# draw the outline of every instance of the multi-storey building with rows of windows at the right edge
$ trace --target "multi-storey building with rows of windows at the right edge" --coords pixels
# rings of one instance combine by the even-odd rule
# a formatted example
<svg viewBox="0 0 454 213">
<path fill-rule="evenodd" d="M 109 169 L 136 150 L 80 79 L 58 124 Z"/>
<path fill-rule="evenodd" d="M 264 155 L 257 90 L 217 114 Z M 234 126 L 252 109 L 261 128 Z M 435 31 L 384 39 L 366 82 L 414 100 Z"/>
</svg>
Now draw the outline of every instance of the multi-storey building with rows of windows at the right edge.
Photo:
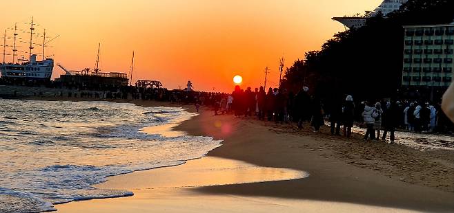
<svg viewBox="0 0 454 213">
<path fill-rule="evenodd" d="M 453 79 L 454 22 L 404 31 L 402 86 L 446 89 Z"/>
</svg>

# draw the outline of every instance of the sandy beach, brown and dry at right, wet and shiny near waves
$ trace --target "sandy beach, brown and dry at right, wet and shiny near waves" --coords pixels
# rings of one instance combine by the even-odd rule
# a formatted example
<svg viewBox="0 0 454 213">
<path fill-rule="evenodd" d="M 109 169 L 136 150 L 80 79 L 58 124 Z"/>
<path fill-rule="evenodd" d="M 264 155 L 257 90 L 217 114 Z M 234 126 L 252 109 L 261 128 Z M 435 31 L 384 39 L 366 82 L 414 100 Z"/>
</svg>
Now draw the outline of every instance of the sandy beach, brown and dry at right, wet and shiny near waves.
<svg viewBox="0 0 454 213">
<path fill-rule="evenodd" d="M 193 106 L 187 107 L 193 111 Z M 56 205 L 57 210 L 454 212 L 453 151 L 421 152 L 397 144 L 364 143 L 359 135 L 353 139 L 331 136 L 326 127 L 315 134 L 308 125 L 299 131 L 291 124 L 213 116 L 213 111 L 204 108 L 200 115 L 175 129 L 224 139 L 224 145 L 208 153 L 210 157 L 181 166 L 110 177 L 98 186 L 131 190 L 135 193 L 132 197 L 66 203 Z M 224 171 L 216 169 L 228 165 L 236 166 Z M 239 169 L 245 167 L 253 169 Z M 277 168 L 290 170 L 282 172 Z M 210 170 L 215 172 L 207 172 Z M 257 171 L 282 174 L 266 177 Z M 310 175 L 277 180 L 288 179 L 297 171 Z M 238 178 L 233 181 L 224 177 Z M 266 181 L 267 178 L 275 181 Z M 257 181 L 266 182 L 254 183 Z"/>
</svg>

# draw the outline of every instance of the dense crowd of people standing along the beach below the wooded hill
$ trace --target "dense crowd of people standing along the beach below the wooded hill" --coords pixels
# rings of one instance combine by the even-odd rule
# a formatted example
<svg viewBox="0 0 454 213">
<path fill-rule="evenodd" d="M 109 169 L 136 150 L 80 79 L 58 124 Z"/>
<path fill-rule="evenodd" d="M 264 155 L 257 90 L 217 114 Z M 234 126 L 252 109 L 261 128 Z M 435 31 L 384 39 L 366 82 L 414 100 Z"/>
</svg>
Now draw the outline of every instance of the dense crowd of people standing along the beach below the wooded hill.
<svg viewBox="0 0 454 213">
<path fill-rule="evenodd" d="M 354 102 L 350 95 L 331 98 L 310 96 L 308 87 L 294 94 L 286 89 L 235 86 L 231 94 L 213 93 L 215 115 L 233 113 L 236 117 L 257 117 L 277 123 L 296 122 L 303 128 L 310 123 L 317 133 L 325 119 L 330 133 L 351 137 L 353 124 L 366 127 L 364 139 L 394 141 L 396 129 L 422 133 L 453 133 L 454 126 L 440 110 L 440 104 L 409 100 L 368 100 Z M 201 100 L 201 99 L 200 99 Z M 204 104 L 203 101 L 197 104 Z M 382 133 L 382 134 L 381 134 Z M 380 137 L 381 136 L 381 137 Z"/>
</svg>

